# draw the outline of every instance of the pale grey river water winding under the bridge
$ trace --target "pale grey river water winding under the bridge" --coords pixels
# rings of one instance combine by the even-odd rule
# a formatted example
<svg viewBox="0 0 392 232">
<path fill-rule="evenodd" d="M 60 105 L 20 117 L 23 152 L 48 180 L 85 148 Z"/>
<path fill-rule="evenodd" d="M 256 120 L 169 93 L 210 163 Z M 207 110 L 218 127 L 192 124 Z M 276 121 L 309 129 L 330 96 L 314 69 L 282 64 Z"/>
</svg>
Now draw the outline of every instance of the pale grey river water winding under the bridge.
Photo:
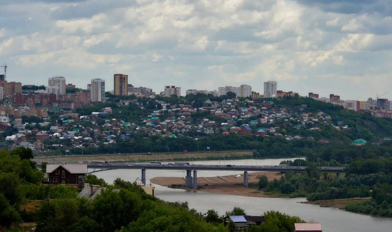
<svg viewBox="0 0 392 232">
<path fill-rule="evenodd" d="M 290 158 L 289 160 L 294 160 Z M 208 160 L 194 161 L 193 164 L 233 164 L 233 165 L 277 165 L 286 159 L 264 159 L 264 160 Z M 256 164 L 257 162 L 257 164 Z M 108 170 L 94 173 L 108 183 L 120 177 L 123 180 L 133 182 L 141 177 L 140 170 L 122 169 Z M 238 171 L 197 171 L 198 177 L 225 176 L 240 174 Z M 158 176 L 185 176 L 185 171 L 180 170 L 146 170 L 146 181 Z M 187 191 L 182 189 L 171 189 L 160 185 L 156 187 L 156 196 L 165 201 L 188 201 L 189 207 L 198 212 L 205 213 L 214 209 L 223 215 L 233 207 L 241 207 L 249 215 L 261 215 L 267 210 L 277 210 L 289 215 L 299 216 L 307 222 L 319 222 L 323 232 L 391 232 L 392 219 L 356 214 L 339 210 L 336 208 L 319 207 L 318 205 L 301 204 L 305 198 L 257 198 L 246 196 L 234 196 L 217 194 L 211 192 Z"/>
</svg>

